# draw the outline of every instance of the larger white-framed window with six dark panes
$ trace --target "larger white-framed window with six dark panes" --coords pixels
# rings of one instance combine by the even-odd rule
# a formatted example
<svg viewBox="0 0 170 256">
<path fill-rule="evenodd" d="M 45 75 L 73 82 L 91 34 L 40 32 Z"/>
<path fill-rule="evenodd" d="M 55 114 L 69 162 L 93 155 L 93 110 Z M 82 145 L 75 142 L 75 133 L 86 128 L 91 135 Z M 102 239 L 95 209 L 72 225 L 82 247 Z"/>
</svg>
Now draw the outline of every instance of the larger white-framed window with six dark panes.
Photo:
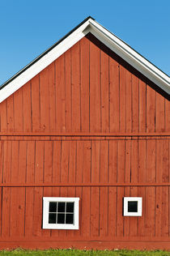
<svg viewBox="0 0 170 256">
<path fill-rule="evenodd" d="M 43 228 L 79 229 L 79 198 L 43 198 Z"/>
</svg>

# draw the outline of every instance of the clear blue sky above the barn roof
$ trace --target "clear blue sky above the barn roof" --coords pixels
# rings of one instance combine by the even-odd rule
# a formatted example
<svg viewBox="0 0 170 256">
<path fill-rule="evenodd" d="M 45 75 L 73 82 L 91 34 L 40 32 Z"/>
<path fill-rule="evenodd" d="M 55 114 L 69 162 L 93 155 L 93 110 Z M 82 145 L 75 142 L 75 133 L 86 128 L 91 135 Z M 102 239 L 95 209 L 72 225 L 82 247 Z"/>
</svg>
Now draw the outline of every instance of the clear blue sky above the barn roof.
<svg viewBox="0 0 170 256">
<path fill-rule="evenodd" d="M 89 15 L 170 75 L 170 0 L 0 0 L 0 85 Z"/>
</svg>

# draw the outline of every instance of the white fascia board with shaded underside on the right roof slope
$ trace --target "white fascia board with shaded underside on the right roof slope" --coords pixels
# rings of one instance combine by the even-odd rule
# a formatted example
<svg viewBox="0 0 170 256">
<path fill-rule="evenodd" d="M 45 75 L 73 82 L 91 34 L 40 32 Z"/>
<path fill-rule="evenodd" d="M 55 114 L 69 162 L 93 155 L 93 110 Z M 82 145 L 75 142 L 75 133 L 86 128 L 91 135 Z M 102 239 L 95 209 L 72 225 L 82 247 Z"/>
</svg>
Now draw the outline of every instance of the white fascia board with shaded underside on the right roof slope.
<svg viewBox="0 0 170 256">
<path fill-rule="evenodd" d="M 135 52 L 134 49 L 131 49 L 130 46 L 126 45 L 123 41 L 117 38 L 117 36 L 108 32 L 107 29 L 102 27 L 99 23 L 96 23 L 95 20 L 91 19 L 89 23 L 91 25 L 89 32 L 131 66 L 134 66 L 134 68 L 141 72 L 142 75 L 151 79 L 152 82 L 170 94 L 170 78 L 168 75 L 164 74 L 164 72 L 152 65 L 151 62 L 148 62 L 145 58 L 142 58 L 142 56 Z"/>
</svg>

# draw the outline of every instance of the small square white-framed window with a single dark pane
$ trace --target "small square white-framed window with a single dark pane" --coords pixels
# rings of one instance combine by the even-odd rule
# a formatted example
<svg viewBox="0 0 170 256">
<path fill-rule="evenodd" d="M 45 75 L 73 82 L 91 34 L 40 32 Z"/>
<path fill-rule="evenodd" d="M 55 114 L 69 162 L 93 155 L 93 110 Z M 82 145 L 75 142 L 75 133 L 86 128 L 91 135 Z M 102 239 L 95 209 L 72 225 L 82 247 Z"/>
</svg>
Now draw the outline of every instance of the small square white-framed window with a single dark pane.
<svg viewBox="0 0 170 256">
<path fill-rule="evenodd" d="M 124 216 L 142 216 L 142 198 L 125 197 L 123 198 Z"/>
</svg>

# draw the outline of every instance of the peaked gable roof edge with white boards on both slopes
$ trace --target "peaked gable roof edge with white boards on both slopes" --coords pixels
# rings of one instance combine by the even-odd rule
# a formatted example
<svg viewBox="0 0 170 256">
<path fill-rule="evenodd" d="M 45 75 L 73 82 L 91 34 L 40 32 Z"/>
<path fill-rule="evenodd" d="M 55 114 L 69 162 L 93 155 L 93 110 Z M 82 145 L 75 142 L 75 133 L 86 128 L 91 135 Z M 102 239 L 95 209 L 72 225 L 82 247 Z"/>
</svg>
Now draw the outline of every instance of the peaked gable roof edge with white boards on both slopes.
<svg viewBox="0 0 170 256">
<path fill-rule="evenodd" d="M 170 94 L 170 77 L 90 16 L 0 87 L 0 103 L 91 32 L 98 40 Z"/>
</svg>

